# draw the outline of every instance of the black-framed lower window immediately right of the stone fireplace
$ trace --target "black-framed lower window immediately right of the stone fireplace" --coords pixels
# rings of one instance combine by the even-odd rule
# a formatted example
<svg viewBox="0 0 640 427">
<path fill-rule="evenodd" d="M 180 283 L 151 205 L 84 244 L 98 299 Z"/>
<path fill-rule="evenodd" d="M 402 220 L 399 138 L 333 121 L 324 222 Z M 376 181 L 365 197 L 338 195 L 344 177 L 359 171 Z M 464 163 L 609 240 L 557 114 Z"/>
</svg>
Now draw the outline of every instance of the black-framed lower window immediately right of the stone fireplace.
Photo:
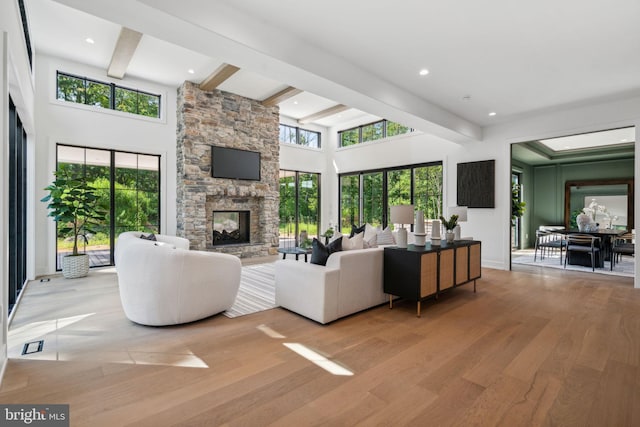
<svg viewBox="0 0 640 427">
<path fill-rule="evenodd" d="M 320 174 L 280 171 L 280 247 L 301 246 L 318 237 Z"/>
</svg>

